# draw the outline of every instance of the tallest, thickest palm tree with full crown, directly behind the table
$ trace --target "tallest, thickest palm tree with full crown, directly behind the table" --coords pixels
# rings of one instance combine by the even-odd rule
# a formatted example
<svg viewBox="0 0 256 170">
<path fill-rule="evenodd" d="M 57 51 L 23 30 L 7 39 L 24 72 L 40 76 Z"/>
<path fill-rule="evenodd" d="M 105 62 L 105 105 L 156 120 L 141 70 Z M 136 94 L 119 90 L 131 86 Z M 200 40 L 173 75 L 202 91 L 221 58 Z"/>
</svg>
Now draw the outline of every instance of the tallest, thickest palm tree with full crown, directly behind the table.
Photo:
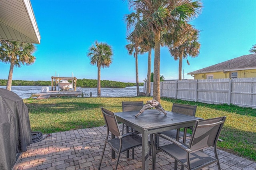
<svg viewBox="0 0 256 170">
<path fill-rule="evenodd" d="M 154 83 L 153 99 L 160 102 L 160 35 L 165 29 L 171 29 L 178 22 L 186 22 L 197 16 L 202 5 L 200 1 L 192 0 L 128 0 L 134 13 L 130 14 L 134 21 L 128 23 L 131 27 L 138 18 L 143 20 L 148 30 L 154 32 Z"/>
</svg>

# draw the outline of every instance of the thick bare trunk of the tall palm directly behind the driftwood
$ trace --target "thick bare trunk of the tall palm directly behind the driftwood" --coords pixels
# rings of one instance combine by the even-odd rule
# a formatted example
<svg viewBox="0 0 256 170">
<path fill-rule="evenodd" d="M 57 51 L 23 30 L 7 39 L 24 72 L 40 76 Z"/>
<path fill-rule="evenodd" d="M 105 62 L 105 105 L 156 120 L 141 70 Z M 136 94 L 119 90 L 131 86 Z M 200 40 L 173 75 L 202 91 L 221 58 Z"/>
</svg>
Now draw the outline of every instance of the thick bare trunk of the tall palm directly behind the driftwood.
<svg viewBox="0 0 256 170">
<path fill-rule="evenodd" d="M 153 99 L 160 103 L 160 30 L 155 32 Z"/>
</svg>

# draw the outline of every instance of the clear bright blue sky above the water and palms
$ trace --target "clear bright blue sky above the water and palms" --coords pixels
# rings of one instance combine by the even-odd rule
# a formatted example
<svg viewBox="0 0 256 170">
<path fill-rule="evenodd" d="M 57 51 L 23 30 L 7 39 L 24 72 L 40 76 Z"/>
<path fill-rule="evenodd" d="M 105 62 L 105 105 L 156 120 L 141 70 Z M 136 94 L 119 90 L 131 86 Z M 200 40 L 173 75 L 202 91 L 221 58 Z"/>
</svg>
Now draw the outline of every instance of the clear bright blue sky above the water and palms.
<svg viewBox="0 0 256 170">
<path fill-rule="evenodd" d="M 89 47 L 97 40 L 114 51 L 113 63 L 101 69 L 102 80 L 135 82 L 135 59 L 124 48 L 128 44 L 124 15 L 130 14 L 122 0 L 31 0 L 41 43 L 36 45 L 33 65 L 14 68 L 13 80 L 50 81 L 60 77 L 97 79 L 97 67 L 90 65 Z M 204 8 L 190 22 L 200 30 L 200 54 L 183 60 L 187 73 L 250 54 L 256 44 L 256 0 L 202 0 Z M 147 56 L 138 56 L 139 81 L 147 74 Z M 152 51 L 152 68 L 154 51 Z M 9 64 L 0 63 L 0 79 L 8 79 Z M 178 61 L 161 48 L 160 74 L 178 79 Z"/>
</svg>

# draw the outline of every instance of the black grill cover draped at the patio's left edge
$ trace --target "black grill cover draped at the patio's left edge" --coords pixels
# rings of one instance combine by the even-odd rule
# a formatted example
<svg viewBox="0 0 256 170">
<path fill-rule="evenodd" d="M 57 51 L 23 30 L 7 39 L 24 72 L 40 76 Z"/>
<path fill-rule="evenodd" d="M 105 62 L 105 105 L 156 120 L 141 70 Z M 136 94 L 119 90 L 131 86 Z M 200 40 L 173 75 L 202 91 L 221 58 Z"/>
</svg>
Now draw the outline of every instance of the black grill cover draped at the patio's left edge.
<svg viewBox="0 0 256 170">
<path fill-rule="evenodd" d="M 28 108 L 16 93 L 0 88 L 0 170 L 11 170 L 16 153 L 32 143 Z"/>
</svg>

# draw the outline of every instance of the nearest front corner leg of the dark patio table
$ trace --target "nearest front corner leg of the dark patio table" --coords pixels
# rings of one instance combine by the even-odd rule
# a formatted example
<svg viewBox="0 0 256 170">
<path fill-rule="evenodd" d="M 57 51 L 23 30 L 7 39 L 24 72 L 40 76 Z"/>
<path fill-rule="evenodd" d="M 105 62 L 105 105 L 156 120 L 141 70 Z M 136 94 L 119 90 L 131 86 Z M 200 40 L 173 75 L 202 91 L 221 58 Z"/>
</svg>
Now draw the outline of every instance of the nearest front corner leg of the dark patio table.
<svg viewBox="0 0 256 170">
<path fill-rule="evenodd" d="M 142 169 L 149 169 L 149 153 L 148 153 L 148 130 L 142 132 Z"/>
</svg>

